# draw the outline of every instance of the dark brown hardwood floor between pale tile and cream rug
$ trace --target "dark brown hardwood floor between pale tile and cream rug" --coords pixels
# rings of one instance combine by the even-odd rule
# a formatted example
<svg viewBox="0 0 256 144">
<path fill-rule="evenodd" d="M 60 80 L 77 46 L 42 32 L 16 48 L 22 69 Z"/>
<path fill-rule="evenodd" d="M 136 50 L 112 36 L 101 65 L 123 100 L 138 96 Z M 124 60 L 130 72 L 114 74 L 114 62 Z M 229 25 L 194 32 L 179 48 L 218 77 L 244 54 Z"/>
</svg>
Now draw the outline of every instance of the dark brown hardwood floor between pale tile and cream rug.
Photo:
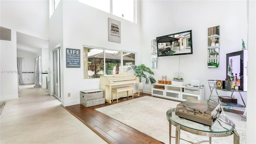
<svg viewBox="0 0 256 144">
<path fill-rule="evenodd" d="M 151 96 L 151 94 L 140 94 L 141 96 Z M 134 98 L 138 98 L 134 96 Z M 132 99 L 131 96 L 129 98 L 119 98 L 118 102 L 123 102 L 126 100 Z M 112 102 L 112 104 L 116 104 L 116 100 Z M 67 106 L 65 107 L 71 114 L 73 114 L 76 118 L 78 118 L 81 122 L 83 122 L 86 126 L 88 126 L 91 130 L 93 130 L 96 134 L 98 134 L 102 139 L 104 139 L 109 144 L 162 144 L 105 114 L 102 114 L 96 110 L 95 108 L 100 108 L 104 106 L 110 105 L 109 103 L 100 104 L 98 106 L 92 107 L 84 107 L 81 104 Z"/>
</svg>

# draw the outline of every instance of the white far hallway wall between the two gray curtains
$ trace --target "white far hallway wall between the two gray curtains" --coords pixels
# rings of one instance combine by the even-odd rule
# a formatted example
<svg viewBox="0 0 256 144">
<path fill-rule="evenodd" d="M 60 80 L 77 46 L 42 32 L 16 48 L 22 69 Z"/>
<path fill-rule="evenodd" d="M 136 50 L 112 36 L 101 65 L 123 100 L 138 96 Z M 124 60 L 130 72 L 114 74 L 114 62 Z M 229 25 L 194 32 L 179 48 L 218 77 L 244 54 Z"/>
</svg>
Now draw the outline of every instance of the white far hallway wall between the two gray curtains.
<svg viewBox="0 0 256 144">
<path fill-rule="evenodd" d="M 34 72 L 35 70 L 35 58 L 36 54 L 30 53 L 23 50 L 17 50 L 17 58 L 22 59 L 22 71 Z M 34 73 L 23 73 L 22 80 L 24 84 L 34 84 L 35 74 Z"/>
</svg>

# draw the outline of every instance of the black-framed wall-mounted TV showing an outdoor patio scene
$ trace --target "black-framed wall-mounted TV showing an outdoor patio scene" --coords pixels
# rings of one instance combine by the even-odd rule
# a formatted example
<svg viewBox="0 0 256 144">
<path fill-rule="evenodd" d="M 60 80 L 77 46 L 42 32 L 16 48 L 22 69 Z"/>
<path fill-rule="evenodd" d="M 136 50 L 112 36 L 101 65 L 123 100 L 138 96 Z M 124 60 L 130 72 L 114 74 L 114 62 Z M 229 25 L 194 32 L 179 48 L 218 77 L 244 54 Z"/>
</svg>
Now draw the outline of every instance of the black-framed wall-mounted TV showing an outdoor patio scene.
<svg viewBox="0 0 256 144">
<path fill-rule="evenodd" d="M 192 30 L 156 38 L 158 56 L 193 54 Z"/>
</svg>

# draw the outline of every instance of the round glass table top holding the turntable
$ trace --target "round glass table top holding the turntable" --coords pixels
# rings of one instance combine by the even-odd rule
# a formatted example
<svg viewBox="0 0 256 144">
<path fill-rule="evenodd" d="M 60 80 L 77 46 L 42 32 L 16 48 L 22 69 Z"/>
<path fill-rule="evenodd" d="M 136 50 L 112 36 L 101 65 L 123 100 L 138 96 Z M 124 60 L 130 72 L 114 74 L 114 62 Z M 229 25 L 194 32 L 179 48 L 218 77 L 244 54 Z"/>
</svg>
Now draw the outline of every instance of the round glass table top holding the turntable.
<svg viewBox="0 0 256 144">
<path fill-rule="evenodd" d="M 172 108 L 166 112 L 166 116 L 172 122 L 184 126 L 186 128 L 199 130 L 202 132 L 211 132 L 211 133 L 224 133 L 233 131 L 235 128 L 235 124 L 225 116 L 221 115 L 218 119 L 214 122 L 212 126 L 205 126 L 203 124 L 193 122 L 191 120 L 186 120 L 184 118 L 180 118 L 175 115 L 176 108 Z"/>
</svg>

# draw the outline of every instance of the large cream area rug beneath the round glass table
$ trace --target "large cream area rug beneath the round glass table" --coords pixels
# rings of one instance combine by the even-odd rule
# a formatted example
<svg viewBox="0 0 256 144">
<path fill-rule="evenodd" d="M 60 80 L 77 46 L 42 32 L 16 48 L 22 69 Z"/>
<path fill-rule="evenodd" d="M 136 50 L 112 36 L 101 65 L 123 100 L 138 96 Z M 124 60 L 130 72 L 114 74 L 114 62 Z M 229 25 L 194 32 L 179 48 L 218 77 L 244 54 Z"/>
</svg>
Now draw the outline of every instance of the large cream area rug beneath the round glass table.
<svg viewBox="0 0 256 144">
<path fill-rule="evenodd" d="M 156 98 L 152 96 L 143 96 L 132 100 L 119 102 L 110 106 L 104 106 L 95 110 L 102 112 L 134 128 L 160 142 L 169 144 L 169 122 L 166 118 L 166 111 L 170 108 L 176 108 L 180 102 Z M 236 131 L 240 135 L 240 144 L 246 142 L 246 121 L 242 121 L 242 117 L 238 114 L 225 112 L 226 117 L 230 118 L 236 124 Z M 172 126 L 172 136 L 175 136 L 175 127 Z M 209 140 L 208 137 L 190 134 L 181 130 L 180 138 L 185 138 L 192 142 Z M 212 138 L 212 144 L 232 144 L 233 135 L 220 138 Z M 175 138 L 171 139 L 175 143 Z M 184 140 L 180 140 L 180 144 L 190 144 Z"/>
</svg>

